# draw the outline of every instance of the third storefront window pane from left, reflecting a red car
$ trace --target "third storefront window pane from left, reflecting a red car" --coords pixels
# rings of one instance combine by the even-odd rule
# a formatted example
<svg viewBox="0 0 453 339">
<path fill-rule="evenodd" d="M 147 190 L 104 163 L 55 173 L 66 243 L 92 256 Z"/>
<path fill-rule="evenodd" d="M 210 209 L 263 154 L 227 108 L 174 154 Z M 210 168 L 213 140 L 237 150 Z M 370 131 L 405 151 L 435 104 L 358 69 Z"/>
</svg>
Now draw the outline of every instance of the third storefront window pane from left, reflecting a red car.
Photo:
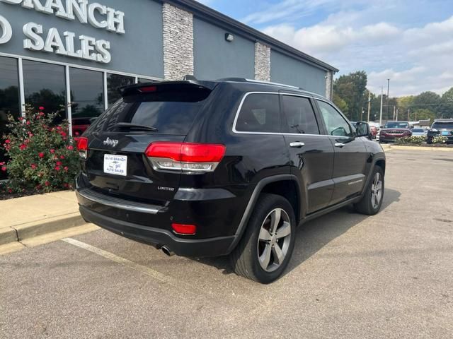
<svg viewBox="0 0 453 339">
<path fill-rule="evenodd" d="M 69 69 L 72 135 L 79 136 L 104 110 L 103 73 Z"/>
</svg>

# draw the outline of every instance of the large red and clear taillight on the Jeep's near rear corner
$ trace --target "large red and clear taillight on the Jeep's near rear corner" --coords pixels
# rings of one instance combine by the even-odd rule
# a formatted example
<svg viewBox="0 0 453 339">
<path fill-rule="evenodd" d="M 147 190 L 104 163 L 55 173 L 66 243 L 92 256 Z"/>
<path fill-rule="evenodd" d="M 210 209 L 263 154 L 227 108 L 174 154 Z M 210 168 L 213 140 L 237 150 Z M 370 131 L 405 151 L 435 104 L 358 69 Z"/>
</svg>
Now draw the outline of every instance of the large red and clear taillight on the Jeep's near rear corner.
<svg viewBox="0 0 453 339">
<path fill-rule="evenodd" d="M 183 173 L 213 172 L 225 155 L 225 146 L 215 143 L 149 144 L 145 155 L 156 170 L 174 170 Z"/>
</svg>

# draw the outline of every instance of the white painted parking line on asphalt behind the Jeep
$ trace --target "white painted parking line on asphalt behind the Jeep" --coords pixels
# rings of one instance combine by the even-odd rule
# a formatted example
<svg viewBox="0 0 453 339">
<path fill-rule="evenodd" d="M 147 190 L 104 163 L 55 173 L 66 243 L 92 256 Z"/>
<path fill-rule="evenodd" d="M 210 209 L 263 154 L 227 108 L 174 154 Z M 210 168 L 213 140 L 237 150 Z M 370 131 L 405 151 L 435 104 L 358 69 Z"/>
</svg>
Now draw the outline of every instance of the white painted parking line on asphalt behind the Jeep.
<svg viewBox="0 0 453 339">
<path fill-rule="evenodd" d="M 90 251 L 94 254 L 98 254 L 98 256 L 102 256 L 111 261 L 115 261 L 115 263 L 120 263 L 123 266 L 127 266 L 132 268 L 133 270 L 137 270 L 138 272 L 144 273 L 149 275 L 151 278 L 161 281 L 162 283 L 167 283 L 168 285 L 172 285 L 177 287 L 178 289 L 185 290 L 185 292 L 192 292 L 197 296 L 205 295 L 201 290 L 198 290 L 196 287 L 187 285 L 179 280 L 169 277 L 164 273 L 160 273 L 157 270 L 153 270 L 147 266 L 140 265 L 139 263 L 134 263 L 134 261 L 130 261 L 126 258 L 122 258 L 117 256 L 113 253 L 108 251 L 104 251 L 103 249 L 98 249 L 95 246 L 91 246 L 90 244 L 86 244 L 84 242 L 79 242 L 79 240 L 72 239 L 72 238 L 64 238 L 62 241 L 67 242 L 68 244 L 80 247 L 81 249 L 86 249 L 86 251 Z M 205 295 L 206 297 L 206 295 Z"/>
</svg>

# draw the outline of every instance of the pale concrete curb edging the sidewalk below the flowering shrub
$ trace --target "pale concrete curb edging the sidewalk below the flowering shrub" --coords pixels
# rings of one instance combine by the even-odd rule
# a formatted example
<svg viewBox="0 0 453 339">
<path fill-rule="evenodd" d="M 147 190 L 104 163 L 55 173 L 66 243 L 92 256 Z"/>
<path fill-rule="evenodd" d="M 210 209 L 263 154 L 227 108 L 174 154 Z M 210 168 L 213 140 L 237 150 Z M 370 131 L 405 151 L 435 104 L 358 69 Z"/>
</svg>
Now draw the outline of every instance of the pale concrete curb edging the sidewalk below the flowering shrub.
<svg viewBox="0 0 453 339">
<path fill-rule="evenodd" d="M 52 232 L 66 230 L 86 224 L 79 212 L 59 215 L 33 222 L 26 222 L 0 230 L 0 245 L 21 242 Z"/>
</svg>

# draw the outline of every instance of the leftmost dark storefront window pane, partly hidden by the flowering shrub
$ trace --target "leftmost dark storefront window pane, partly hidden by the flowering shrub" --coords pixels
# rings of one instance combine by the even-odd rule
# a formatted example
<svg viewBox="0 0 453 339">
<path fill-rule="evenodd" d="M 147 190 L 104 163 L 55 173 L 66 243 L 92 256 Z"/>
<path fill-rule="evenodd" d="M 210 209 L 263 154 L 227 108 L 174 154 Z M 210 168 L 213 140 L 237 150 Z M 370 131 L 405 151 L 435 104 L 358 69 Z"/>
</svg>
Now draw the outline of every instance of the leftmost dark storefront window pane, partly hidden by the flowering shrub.
<svg viewBox="0 0 453 339">
<path fill-rule="evenodd" d="M 8 114 L 19 117 L 19 81 L 17 59 L 0 57 L 0 143 L 4 143 Z M 6 161 L 3 150 L 0 150 L 0 162 Z M 6 179 L 6 174 L 0 171 L 0 180 Z"/>
</svg>

